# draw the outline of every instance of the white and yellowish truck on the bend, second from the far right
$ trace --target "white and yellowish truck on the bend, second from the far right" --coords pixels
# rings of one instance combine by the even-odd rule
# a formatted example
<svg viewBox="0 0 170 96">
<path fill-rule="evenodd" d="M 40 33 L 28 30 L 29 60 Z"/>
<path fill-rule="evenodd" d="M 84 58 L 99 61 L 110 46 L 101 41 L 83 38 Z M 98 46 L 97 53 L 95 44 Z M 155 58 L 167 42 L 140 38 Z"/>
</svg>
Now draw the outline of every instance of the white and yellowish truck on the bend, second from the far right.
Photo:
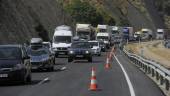
<svg viewBox="0 0 170 96">
<path fill-rule="evenodd" d="M 142 37 L 141 37 L 142 40 L 150 40 L 150 39 L 152 39 L 153 32 L 152 32 L 151 29 L 142 28 L 141 32 L 142 32 Z"/>
</svg>

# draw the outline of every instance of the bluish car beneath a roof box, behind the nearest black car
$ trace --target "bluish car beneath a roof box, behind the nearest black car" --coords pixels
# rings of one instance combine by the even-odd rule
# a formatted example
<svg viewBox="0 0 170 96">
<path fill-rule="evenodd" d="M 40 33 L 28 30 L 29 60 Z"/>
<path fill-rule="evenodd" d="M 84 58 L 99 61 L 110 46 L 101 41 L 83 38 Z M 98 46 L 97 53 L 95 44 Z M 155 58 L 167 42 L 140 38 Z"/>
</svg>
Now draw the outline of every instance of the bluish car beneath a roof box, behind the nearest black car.
<svg viewBox="0 0 170 96">
<path fill-rule="evenodd" d="M 32 70 L 47 69 L 54 70 L 55 55 L 53 55 L 48 48 L 40 48 L 37 50 L 30 50 Z"/>
</svg>

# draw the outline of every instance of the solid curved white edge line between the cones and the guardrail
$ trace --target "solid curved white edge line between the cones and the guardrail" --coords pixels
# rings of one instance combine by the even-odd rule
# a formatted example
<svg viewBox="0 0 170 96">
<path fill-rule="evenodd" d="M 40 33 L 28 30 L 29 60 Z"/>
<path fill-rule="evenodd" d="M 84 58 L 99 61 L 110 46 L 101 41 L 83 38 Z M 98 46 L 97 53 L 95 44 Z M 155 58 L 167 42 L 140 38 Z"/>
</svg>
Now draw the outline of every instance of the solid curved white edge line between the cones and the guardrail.
<svg viewBox="0 0 170 96">
<path fill-rule="evenodd" d="M 133 85 L 132 85 L 132 83 L 131 83 L 131 81 L 130 81 L 130 79 L 129 79 L 129 76 L 128 76 L 125 68 L 123 67 L 123 65 L 120 63 L 120 61 L 118 60 L 118 58 L 117 58 L 115 55 L 114 55 L 114 57 L 115 57 L 116 61 L 118 62 L 118 64 L 120 65 L 120 67 L 121 67 L 121 69 L 122 69 L 122 71 L 123 71 L 123 73 L 124 73 L 124 75 L 125 75 L 125 78 L 126 78 L 126 81 L 127 81 L 127 83 L 128 83 L 131 96 L 136 96 L 136 95 L 135 95 L 134 88 L 133 88 Z"/>
</svg>

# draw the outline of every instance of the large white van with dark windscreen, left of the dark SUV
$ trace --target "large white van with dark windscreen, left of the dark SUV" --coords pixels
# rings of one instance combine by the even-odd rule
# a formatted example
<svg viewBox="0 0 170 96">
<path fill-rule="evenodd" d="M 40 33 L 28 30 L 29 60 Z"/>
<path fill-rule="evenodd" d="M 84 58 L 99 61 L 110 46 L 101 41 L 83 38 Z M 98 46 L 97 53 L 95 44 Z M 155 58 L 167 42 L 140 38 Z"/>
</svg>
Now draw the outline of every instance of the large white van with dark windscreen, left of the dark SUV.
<svg viewBox="0 0 170 96">
<path fill-rule="evenodd" d="M 68 48 L 71 47 L 72 39 L 73 34 L 69 26 L 62 25 L 55 29 L 52 48 L 56 57 L 68 54 Z"/>
</svg>

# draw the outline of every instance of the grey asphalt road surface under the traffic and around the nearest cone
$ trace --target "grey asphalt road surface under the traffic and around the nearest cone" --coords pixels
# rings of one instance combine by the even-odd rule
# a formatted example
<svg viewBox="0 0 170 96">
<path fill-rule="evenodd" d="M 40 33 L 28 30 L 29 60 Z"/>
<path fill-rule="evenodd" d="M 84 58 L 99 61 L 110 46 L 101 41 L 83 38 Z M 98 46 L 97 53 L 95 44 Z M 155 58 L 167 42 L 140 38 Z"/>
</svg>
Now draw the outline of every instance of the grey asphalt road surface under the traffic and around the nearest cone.
<svg viewBox="0 0 170 96">
<path fill-rule="evenodd" d="M 0 96 L 164 96 L 156 84 L 117 50 L 111 69 L 106 53 L 93 63 L 57 58 L 54 72 L 33 72 L 31 84 L 1 84 Z M 98 91 L 89 91 L 91 67 L 96 68 Z M 134 92 L 134 93 L 133 93 Z"/>
</svg>

